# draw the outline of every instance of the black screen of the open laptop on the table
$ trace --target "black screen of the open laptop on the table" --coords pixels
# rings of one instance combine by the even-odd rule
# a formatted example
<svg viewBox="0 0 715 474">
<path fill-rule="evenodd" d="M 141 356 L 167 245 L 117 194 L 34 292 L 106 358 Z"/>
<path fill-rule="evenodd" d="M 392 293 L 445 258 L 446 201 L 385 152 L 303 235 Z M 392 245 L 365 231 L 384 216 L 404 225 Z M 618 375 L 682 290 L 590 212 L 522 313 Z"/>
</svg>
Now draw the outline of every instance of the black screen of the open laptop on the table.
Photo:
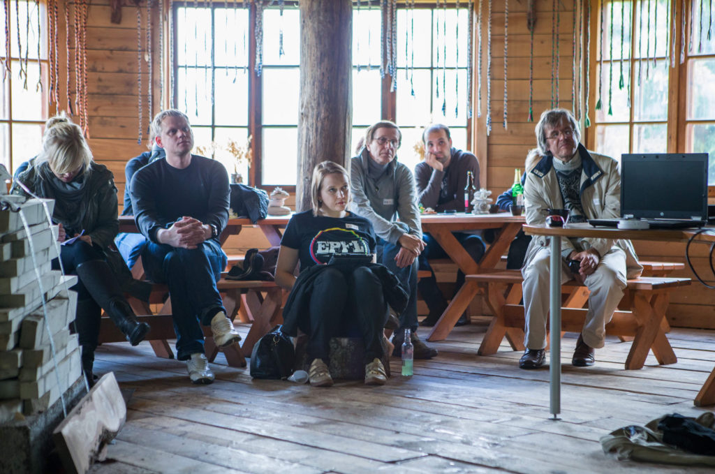
<svg viewBox="0 0 715 474">
<path fill-rule="evenodd" d="M 708 217 L 708 154 L 623 154 L 621 216 Z"/>
</svg>

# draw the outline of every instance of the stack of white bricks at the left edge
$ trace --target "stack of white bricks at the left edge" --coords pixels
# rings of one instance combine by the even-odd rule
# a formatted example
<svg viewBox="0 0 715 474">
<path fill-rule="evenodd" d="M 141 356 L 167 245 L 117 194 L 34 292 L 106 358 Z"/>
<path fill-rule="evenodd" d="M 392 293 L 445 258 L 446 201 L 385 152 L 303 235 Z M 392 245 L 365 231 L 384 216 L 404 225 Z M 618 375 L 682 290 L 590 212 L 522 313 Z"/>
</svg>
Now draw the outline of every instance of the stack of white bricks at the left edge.
<svg viewBox="0 0 715 474">
<path fill-rule="evenodd" d="M 0 423 L 48 409 L 82 376 L 77 336 L 69 334 L 77 293 L 67 289 L 77 277 L 51 270 L 57 228 L 42 202 L 51 213 L 52 200 L 21 206 L 29 237 L 19 212 L 0 211 Z"/>
</svg>

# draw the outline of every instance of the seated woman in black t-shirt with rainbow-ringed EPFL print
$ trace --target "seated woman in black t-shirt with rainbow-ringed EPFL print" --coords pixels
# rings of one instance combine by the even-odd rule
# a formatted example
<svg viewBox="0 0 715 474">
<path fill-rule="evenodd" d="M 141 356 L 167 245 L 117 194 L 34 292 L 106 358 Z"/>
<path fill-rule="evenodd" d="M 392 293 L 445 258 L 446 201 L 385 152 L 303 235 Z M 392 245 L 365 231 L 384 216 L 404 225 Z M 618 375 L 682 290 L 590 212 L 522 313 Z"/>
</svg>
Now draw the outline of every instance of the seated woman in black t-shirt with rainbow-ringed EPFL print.
<svg viewBox="0 0 715 474">
<path fill-rule="evenodd" d="M 310 300 L 307 302 L 310 314 L 295 323 L 309 336 L 306 352 L 312 358 L 310 385 L 332 385 L 325 364 L 330 354 L 330 337 L 351 329 L 357 329 L 365 341 L 365 383 L 383 385 L 387 377 L 380 361 L 381 339 L 388 307 L 380 277 L 364 265 L 365 260 L 374 262 L 373 226 L 368 219 L 347 211 L 350 178 L 339 164 L 318 164 L 310 189 L 312 210 L 295 214 L 288 222 L 275 272 L 278 285 L 294 293 L 305 292 L 302 296 Z M 349 259 L 363 263 L 337 263 L 335 259 L 334 265 L 325 265 L 338 255 L 351 255 Z M 310 279 L 297 280 L 293 275 L 298 262 L 301 272 L 312 269 Z M 313 268 L 316 265 L 323 267 Z"/>
</svg>

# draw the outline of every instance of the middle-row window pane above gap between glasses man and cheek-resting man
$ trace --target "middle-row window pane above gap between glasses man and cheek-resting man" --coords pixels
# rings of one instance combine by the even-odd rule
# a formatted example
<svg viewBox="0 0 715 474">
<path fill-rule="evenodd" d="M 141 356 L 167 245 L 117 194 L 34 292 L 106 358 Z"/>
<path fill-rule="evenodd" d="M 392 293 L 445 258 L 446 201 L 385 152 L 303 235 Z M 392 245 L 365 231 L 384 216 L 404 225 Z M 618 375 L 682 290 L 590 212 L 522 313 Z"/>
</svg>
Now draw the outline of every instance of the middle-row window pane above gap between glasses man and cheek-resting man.
<svg viewBox="0 0 715 474">
<path fill-rule="evenodd" d="M 405 79 L 405 69 L 398 69 L 397 120 L 400 125 L 419 126 L 432 122 L 431 71 L 415 69 L 412 82 Z M 414 87 L 415 95 L 412 95 Z M 440 102 L 441 104 L 442 102 Z"/>
</svg>

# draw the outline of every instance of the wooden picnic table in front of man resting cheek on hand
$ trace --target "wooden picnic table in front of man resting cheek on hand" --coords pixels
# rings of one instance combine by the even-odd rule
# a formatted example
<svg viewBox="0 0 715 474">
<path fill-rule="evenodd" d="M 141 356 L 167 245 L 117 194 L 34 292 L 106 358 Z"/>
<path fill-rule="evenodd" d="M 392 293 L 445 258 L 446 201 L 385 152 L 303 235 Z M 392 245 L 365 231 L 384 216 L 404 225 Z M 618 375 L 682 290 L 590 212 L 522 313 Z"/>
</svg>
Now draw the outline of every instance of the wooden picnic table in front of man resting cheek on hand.
<svg viewBox="0 0 715 474">
<path fill-rule="evenodd" d="M 496 267 L 524 222 L 523 216 L 513 216 L 508 212 L 479 215 L 465 214 L 463 212 L 458 214 L 423 214 L 422 230 L 434 237 L 450 257 L 450 260 L 465 275 L 472 275 L 479 273 L 480 270 L 490 270 Z M 487 248 L 481 262 L 475 262 L 457 238 L 454 237 L 453 232 L 468 232 L 481 229 L 495 229 L 495 237 L 494 242 Z M 430 331 L 427 340 L 438 341 L 445 339 L 478 291 L 479 285 L 477 283 L 465 282 L 450 301 L 442 317 Z M 515 347 L 515 350 L 517 348 Z"/>
</svg>

